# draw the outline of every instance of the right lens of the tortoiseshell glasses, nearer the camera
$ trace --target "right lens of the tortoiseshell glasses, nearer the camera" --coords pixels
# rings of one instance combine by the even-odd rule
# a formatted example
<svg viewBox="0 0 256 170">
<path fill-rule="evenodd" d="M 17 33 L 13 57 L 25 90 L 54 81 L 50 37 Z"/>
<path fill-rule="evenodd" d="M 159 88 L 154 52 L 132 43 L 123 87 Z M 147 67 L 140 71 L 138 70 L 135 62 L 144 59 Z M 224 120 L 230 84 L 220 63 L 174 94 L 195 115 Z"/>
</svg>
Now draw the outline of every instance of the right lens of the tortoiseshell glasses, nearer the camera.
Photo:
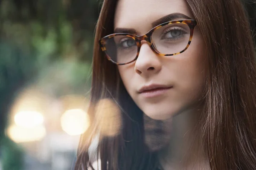
<svg viewBox="0 0 256 170">
<path fill-rule="evenodd" d="M 175 23 L 156 29 L 151 36 L 151 41 L 158 52 L 175 54 L 186 48 L 189 37 L 189 26 L 184 23 Z"/>
</svg>

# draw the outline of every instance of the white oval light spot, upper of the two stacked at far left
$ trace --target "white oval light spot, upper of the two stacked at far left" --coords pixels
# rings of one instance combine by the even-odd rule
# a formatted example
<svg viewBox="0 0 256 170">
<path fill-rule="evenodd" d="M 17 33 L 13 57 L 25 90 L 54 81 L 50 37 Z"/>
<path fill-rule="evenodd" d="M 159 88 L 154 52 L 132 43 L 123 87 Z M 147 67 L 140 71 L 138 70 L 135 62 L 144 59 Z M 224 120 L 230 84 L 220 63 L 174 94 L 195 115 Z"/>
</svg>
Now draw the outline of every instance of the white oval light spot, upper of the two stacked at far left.
<svg viewBox="0 0 256 170">
<path fill-rule="evenodd" d="M 44 117 L 36 111 L 20 111 L 15 114 L 14 121 L 20 127 L 35 127 L 43 124 Z"/>
</svg>

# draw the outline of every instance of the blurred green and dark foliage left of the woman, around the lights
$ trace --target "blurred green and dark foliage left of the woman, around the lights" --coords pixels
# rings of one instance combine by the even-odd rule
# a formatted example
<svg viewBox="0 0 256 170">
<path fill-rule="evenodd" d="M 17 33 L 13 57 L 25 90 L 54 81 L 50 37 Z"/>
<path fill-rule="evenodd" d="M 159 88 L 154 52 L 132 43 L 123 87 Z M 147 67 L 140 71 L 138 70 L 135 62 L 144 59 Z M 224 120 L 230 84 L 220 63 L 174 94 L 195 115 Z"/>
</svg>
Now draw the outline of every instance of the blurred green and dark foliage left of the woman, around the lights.
<svg viewBox="0 0 256 170">
<path fill-rule="evenodd" d="M 56 65 L 70 71 L 70 87 L 84 90 L 99 10 L 96 0 L 0 0 L 0 157 L 5 169 L 22 169 L 19 147 L 5 136 L 17 93 L 44 72 L 52 74 L 47 68 Z M 70 59 L 76 62 L 67 67 L 63 61 Z"/>
</svg>

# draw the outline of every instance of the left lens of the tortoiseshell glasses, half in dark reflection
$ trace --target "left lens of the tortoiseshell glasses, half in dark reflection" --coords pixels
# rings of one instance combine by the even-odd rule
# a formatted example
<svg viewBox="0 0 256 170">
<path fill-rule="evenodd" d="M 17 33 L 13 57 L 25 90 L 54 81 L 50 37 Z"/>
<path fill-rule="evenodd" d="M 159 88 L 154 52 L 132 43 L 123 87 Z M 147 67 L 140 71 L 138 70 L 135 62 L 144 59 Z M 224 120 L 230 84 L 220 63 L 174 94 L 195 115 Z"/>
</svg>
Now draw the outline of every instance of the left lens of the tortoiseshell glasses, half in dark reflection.
<svg viewBox="0 0 256 170">
<path fill-rule="evenodd" d="M 106 53 L 118 63 L 131 62 L 137 55 L 136 41 L 126 35 L 117 35 L 105 41 Z"/>
</svg>

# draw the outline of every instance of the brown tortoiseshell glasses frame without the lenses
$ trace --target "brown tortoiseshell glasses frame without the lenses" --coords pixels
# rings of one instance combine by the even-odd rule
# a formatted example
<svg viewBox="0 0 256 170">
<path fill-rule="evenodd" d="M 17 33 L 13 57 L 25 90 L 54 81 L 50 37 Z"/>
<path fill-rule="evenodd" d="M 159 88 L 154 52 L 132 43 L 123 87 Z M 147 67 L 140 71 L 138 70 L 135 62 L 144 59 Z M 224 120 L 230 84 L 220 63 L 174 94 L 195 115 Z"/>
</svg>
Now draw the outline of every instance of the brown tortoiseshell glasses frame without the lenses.
<svg viewBox="0 0 256 170">
<path fill-rule="evenodd" d="M 189 37 L 189 41 L 186 45 L 186 47 L 180 51 L 180 52 L 177 52 L 177 53 L 174 53 L 174 54 L 163 54 L 163 53 L 160 53 L 154 46 L 154 44 L 152 43 L 152 34 L 155 30 L 157 30 L 158 28 L 161 28 L 163 26 L 166 26 L 166 25 L 170 25 L 170 24 L 186 24 L 187 26 L 189 26 L 189 29 L 190 29 L 190 37 Z M 186 51 L 186 49 L 189 47 L 191 41 L 192 41 L 192 37 L 193 37 L 193 32 L 194 32 L 194 28 L 195 26 L 197 25 L 197 22 L 195 20 L 175 20 L 175 21 L 170 21 L 170 22 L 166 22 L 166 23 L 162 23 L 154 28 L 152 28 L 150 31 L 148 31 L 148 33 L 144 34 L 144 35 L 134 35 L 134 34 L 126 34 L 126 33 L 116 33 L 116 34 L 110 34 L 108 36 L 105 36 L 103 38 L 101 38 L 101 40 L 99 40 L 99 45 L 102 49 L 103 52 L 105 52 L 105 56 L 107 57 L 108 60 L 110 60 L 111 62 L 115 63 L 116 65 L 125 65 L 125 64 L 129 64 L 131 62 L 134 62 L 138 56 L 139 56 L 139 53 L 140 53 L 140 48 L 141 48 L 141 41 L 142 40 L 145 40 L 148 42 L 148 45 L 150 46 L 150 48 L 152 49 L 152 51 L 154 51 L 156 54 L 160 55 L 160 56 L 173 56 L 173 55 L 177 55 L 177 54 L 181 54 L 183 53 L 184 51 Z M 137 55 L 134 59 L 132 59 L 131 61 L 129 62 L 125 62 L 125 63 L 119 63 L 119 62 L 116 62 L 114 61 L 113 59 L 111 59 L 111 56 L 108 55 L 108 52 L 107 52 L 107 49 L 106 49 L 106 41 L 108 39 L 111 39 L 115 36 L 119 36 L 119 35 L 122 35 L 122 36 L 127 36 L 127 37 L 130 37 L 132 38 L 133 40 L 136 41 L 136 44 L 137 44 Z"/>
</svg>

